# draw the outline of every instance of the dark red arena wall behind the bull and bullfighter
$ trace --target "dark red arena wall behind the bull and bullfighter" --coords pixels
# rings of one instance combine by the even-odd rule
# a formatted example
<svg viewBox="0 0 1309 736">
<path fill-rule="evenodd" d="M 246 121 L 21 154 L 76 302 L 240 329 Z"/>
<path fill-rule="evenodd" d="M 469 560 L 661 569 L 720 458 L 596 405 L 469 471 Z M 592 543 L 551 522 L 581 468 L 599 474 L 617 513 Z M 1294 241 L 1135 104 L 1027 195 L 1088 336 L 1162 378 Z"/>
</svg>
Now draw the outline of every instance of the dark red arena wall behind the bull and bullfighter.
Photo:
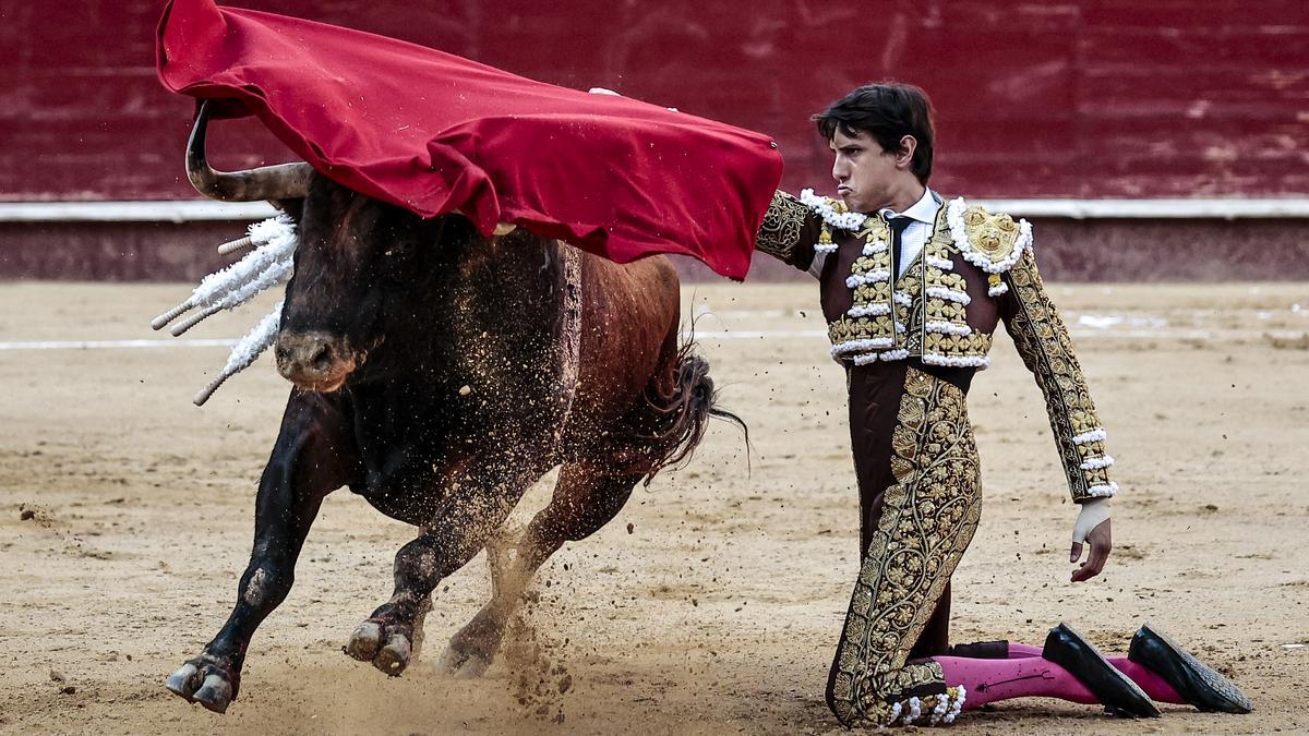
<svg viewBox="0 0 1309 736">
<path fill-rule="evenodd" d="M 830 189 L 826 143 L 813 132 L 812 113 L 867 81 L 910 81 L 927 89 L 936 106 L 932 183 L 942 193 L 1072 200 L 1278 198 L 1292 213 L 1263 217 L 1257 229 L 1264 238 L 1272 233 L 1283 261 L 1309 262 L 1293 237 L 1301 223 L 1288 219 L 1301 216 L 1297 207 L 1309 193 L 1304 0 L 233 4 L 348 25 L 533 79 L 605 86 L 763 131 L 781 144 L 789 189 Z M 191 102 L 154 79 L 161 9 L 160 1 L 141 0 L 0 9 L 0 199 L 196 196 L 181 175 Z M 220 124 L 209 148 L 224 166 L 287 157 L 250 122 Z M 1213 220 L 1215 237 L 1223 237 L 1217 224 L 1225 216 L 1203 215 L 1182 230 L 1206 230 Z M 1067 248 L 1086 241 L 1106 251 L 1172 237 L 1160 223 L 1151 224 L 1158 232 L 1144 225 L 1060 215 L 1042 219 L 1038 233 L 1055 230 Z M 37 275 L 35 268 L 50 275 L 38 263 L 47 242 L 89 227 L 0 221 L 0 274 Z M 120 251 L 135 253 L 154 248 L 151 230 L 160 228 L 119 224 L 79 237 L 101 238 L 101 250 L 113 248 L 103 242 L 113 238 Z M 1123 254 L 1111 255 L 1110 262 L 1121 262 Z M 165 266 L 169 258 L 143 258 L 131 278 L 177 278 L 203 267 L 191 263 L 182 274 Z M 76 258 L 62 263 L 71 261 Z M 1089 259 L 1092 267 L 1100 261 Z M 145 262 L 153 265 L 145 268 Z M 1251 270 L 1249 261 L 1215 272 L 1223 263 L 1192 271 L 1287 276 L 1284 268 Z M 1059 275 L 1097 274 L 1071 268 Z"/>
</svg>

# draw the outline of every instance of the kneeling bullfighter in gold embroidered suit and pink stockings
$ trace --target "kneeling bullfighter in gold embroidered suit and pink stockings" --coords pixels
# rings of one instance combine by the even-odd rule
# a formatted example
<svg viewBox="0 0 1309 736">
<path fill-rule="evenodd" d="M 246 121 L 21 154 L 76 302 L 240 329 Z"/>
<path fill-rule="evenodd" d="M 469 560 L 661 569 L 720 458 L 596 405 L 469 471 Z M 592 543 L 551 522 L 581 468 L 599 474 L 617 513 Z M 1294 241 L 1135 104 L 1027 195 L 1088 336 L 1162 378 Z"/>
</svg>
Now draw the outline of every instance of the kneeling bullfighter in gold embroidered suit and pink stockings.
<svg viewBox="0 0 1309 736">
<path fill-rule="evenodd" d="M 1153 701 L 1247 712 L 1249 699 L 1149 626 L 1106 659 L 1059 625 L 1043 647 L 949 646 L 950 576 L 982 511 L 965 397 L 1004 322 L 1046 399 L 1079 507 L 1072 581 L 1111 547 L 1114 460 L 1025 220 L 928 187 L 932 107 L 922 89 L 873 84 L 814 115 L 839 199 L 779 191 L 758 249 L 818 279 L 831 356 L 846 367 L 860 494 L 860 554 L 826 699 L 846 726 L 949 723 L 1018 697 L 1157 716 Z"/>
</svg>

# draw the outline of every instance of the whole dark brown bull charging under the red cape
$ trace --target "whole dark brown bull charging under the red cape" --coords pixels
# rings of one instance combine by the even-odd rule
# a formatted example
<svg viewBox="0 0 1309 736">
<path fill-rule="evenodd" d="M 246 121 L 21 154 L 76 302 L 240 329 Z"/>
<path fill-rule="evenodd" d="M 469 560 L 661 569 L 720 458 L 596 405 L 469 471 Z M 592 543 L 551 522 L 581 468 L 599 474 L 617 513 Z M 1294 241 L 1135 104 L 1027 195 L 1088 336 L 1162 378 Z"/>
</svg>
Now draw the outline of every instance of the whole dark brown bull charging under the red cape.
<svg viewBox="0 0 1309 736">
<path fill-rule="evenodd" d="M 478 676 L 552 553 L 686 458 L 711 415 L 740 423 L 715 406 L 692 343 L 679 346 L 677 272 L 665 257 L 619 266 L 522 229 L 484 237 L 457 213 L 421 219 L 302 162 L 217 172 L 206 161 L 207 122 L 202 107 L 187 149 L 192 185 L 221 200 L 272 200 L 298 228 L 275 344 L 293 388 L 259 479 L 236 605 L 166 686 L 228 708 L 255 629 L 285 598 L 309 528 L 340 487 L 419 529 L 395 555 L 391 597 L 344 647 L 401 674 L 440 580 L 562 466 L 516 554 L 492 566 L 491 600 L 437 664 Z"/>
</svg>

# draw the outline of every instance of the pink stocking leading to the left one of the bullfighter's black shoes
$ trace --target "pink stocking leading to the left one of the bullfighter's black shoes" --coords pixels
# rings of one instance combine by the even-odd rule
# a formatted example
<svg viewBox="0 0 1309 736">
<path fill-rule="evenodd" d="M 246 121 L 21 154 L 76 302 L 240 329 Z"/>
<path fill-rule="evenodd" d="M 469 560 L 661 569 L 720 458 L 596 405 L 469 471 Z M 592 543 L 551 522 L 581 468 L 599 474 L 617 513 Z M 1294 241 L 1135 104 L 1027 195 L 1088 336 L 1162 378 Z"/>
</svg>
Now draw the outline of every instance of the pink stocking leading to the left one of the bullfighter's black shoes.
<svg viewBox="0 0 1309 736">
<path fill-rule="evenodd" d="M 962 685 L 963 710 L 1011 698 L 1059 698 L 1075 703 L 1098 703 L 1076 677 L 1039 656 L 1018 659 L 932 657 L 941 665 L 946 685 Z"/>
</svg>

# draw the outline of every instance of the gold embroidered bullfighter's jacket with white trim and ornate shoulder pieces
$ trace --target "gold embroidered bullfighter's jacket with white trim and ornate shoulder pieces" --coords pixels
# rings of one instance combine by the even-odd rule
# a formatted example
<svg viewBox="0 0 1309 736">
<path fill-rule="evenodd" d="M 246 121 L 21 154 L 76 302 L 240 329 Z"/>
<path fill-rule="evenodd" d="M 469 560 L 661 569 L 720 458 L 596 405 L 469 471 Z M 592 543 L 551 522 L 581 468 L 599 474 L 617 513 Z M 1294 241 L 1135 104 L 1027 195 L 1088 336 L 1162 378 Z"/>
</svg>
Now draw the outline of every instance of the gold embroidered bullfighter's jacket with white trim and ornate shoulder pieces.
<svg viewBox="0 0 1309 736">
<path fill-rule="evenodd" d="M 1113 458 L 1068 331 L 1046 296 L 1031 254 L 1031 227 L 963 199 L 945 203 L 922 253 L 893 263 L 881 216 L 779 191 L 758 248 L 797 268 L 817 270 L 831 355 L 865 365 L 919 359 L 928 365 L 986 368 L 1003 321 L 1046 399 L 1050 427 L 1076 502 L 1111 496 Z M 901 272 L 898 278 L 893 274 Z"/>
</svg>

